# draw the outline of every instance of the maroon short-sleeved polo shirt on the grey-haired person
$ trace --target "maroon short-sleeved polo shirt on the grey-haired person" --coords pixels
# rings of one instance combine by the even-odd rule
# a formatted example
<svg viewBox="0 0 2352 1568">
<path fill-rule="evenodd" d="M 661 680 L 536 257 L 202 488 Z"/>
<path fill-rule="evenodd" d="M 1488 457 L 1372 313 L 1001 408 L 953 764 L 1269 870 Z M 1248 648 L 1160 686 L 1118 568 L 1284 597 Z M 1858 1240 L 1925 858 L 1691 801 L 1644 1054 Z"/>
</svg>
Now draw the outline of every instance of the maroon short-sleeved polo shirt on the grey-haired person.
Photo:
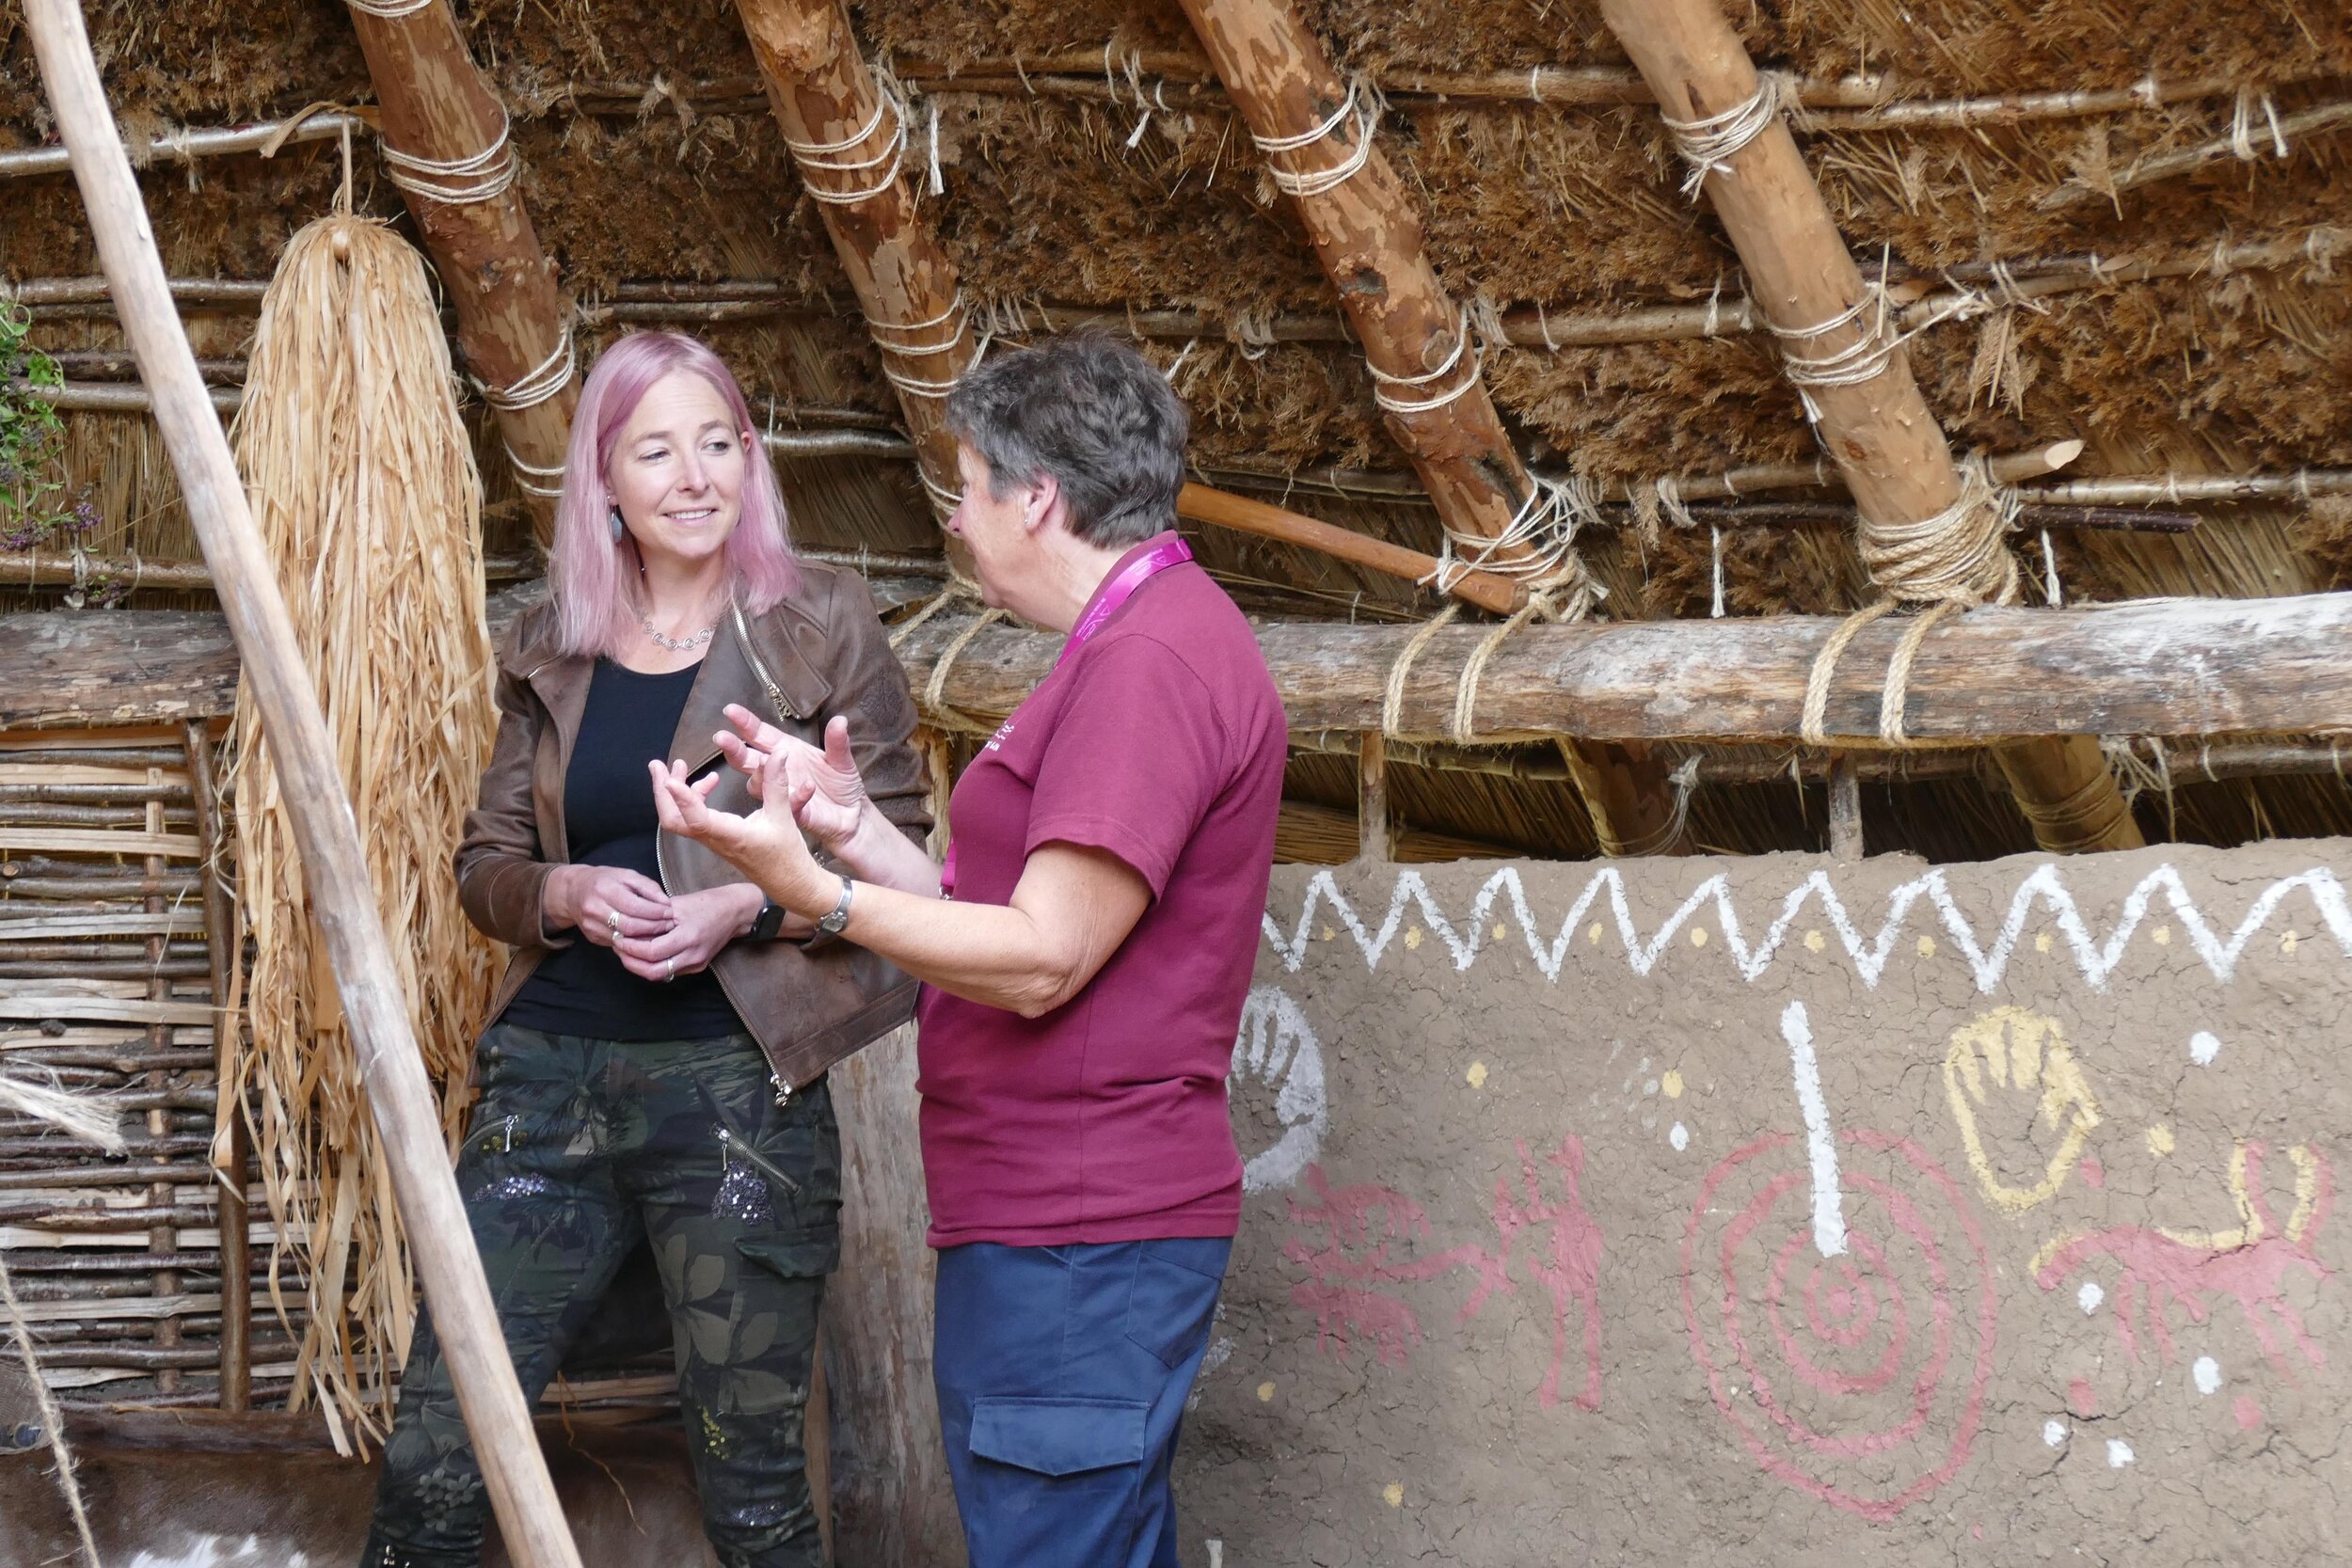
<svg viewBox="0 0 2352 1568">
<path fill-rule="evenodd" d="M 1058 842 L 1110 851 L 1152 900 L 1087 990 L 1044 1018 L 924 987 L 931 1246 L 1235 1234 L 1225 1072 L 1287 741 L 1249 621 L 1181 562 L 1068 654 L 964 769 L 948 816 L 953 898 L 1011 903 L 1030 851 Z"/>
</svg>

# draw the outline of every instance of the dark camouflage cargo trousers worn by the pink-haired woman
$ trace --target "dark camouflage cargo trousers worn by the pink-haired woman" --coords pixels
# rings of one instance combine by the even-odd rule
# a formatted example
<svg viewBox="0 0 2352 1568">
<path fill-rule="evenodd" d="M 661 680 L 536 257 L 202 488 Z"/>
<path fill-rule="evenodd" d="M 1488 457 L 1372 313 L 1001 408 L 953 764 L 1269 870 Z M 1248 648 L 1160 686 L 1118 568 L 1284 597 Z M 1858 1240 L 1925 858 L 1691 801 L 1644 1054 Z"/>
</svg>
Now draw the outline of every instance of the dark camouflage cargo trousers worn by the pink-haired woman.
<svg viewBox="0 0 2352 1568">
<path fill-rule="evenodd" d="M 840 1133 L 818 1081 L 779 1107 L 748 1034 L 604 1041 L 494 1025 L 456 1161 L 524 1399 L 647 1237 L 724 1568 L 823 1561 L 802 1455 L 809 1356 L 840 1258 Z M 367 1568 L 475 1568 L 489 1500 L 421 1319 L 383 1446 Z"/>
</svg>

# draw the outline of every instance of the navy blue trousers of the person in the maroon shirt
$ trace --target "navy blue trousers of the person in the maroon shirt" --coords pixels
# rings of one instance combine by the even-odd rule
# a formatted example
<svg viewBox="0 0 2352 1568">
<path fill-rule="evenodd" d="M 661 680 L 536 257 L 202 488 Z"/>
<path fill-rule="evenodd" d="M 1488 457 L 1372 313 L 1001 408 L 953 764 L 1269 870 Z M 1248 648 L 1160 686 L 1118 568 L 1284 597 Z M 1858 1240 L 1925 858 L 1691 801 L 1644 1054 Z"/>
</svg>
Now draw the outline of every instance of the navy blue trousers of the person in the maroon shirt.
<svg viewBox="0 0 2352 1568">
<path fill-rule="evenodd" d="M 938 1425 L 971 1568 L 1176 1568 L 1171 1465 L 1228 1239 L 938 1253 Z"/>
</svg>

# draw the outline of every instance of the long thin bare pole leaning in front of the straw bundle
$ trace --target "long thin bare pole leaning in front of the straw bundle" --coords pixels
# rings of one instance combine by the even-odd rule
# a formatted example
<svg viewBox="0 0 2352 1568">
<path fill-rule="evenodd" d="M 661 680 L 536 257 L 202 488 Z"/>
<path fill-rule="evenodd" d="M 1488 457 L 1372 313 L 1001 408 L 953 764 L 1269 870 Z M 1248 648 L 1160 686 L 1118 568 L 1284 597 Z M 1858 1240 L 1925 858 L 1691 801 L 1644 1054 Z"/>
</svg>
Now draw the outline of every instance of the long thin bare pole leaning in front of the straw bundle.
<svg viewBox="0 0 2352 1568">
<path fill-rule="evenodd" d="M 172 451 L 188 517 L 238 639 L 245 679 L 261 705 L 301 846 L 310 907 L 327 940 L 367 1081 L 367 1103 L 390 1159 L 416 1272 L 433 1302 L 506 1549 L 522 1568 L 579 1568 L 532 1432 L 529 1406 L 506 1356 L 482 1260 L 473 1251 L 473 1229 L 442 1143 L 440 1107 L 426 1084 L 407 999 L 367 884 L 360 825 L 343 795 L 318 693 L 294 644 L 294 623 L 278 595 L 278 571 L 261 548 L 228 437 L 205 397 L 195 355 L 172 306 L 139 183 L 89 54 L 82 12 L 75 0 L 26 0 L 24 14 L 89 209 L 99 261 L 139 355 L 139 374 L 155 395 L 155 423 Z"/>
</svg>

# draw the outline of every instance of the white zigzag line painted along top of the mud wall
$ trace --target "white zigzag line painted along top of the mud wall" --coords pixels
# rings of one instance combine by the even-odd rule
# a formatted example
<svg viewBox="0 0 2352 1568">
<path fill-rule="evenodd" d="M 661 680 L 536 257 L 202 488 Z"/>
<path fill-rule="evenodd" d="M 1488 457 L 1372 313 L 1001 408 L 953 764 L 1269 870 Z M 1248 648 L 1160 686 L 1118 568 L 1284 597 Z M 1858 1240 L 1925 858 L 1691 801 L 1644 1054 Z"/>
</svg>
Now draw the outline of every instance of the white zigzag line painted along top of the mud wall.
<svg viewBox="0 0 2352 1568">
<path fill-rule="evenodd" d="M 1486 945 L 1486 933 L 1494 919 L 1496 900 L 1508 898 L 1512 914 L 1519 919 L 1519 931 L 1526 938 L 1526 952 L 1536 959 L 1536 966 L 1548 980 L 1559 980 L 1559 966 L 1569 957 L 1569 943 L 1576 936 L 1578 922 L 1588 910 L 1606 893 L 1609 910 L 1616 917 L 1618 938 L 1625 945 L 1625 959 L 1632 964 L 1637 976 L 1646 976 L 1665 952 L 1665 945 L 1677 931 L 1700 912 L 1705 905 L 1715 905 L 1715 919 L 1724 931 L 1724 952 L 1738 966 L 1745 980 L 1755 980 L 1766 969 L 1771 969 L 1773 957 L 1780 952 L 1780 943 L 1788 938 L 1790 926 L 1809 900 L 1820 900 L 1820 917 L 1835 926 L 1839 943 L 1844 943 L 1846 954 L 1853 959 L 1853 971 L 1863 978 L 1863 985 L 1877 990 L 1879 976 L 1886 969 L 1886 957 L 1893 952 L 1896 940 L 1903 936 L 1903 924 L 1910 919 L 1915 905 L 1924 898 L 1936 917 L 1943 919 L 1943 929 L 1950 933 L 1952 943 L 1969 959 L 1969 969 L 1976 973 L 1976 987 L 1980 992 L 1992 992 L 1999 987 L 2002 976 L 2009 969 L 2009 954 L 2016 950 L 2020 936 L 2025 933 L 2027 919 L 2032 919 L 2034 907 L 2049 910 L 2051 924 L 2065 938 L 2067 950 L 2074 954 L 2084 980 L 2093 990 L 2105 990 L 2107 976 L 2114 971 L 2117 961 L 2124 957 L 2124 947 L 2131 943 L 2131 933 L 2138 931 L 2140 922 L 2147 917 L 2150 905 L 2161 893 L 2171 905 L 2173 919 L 2187 931 L 2190 945 L 2197 957 L 2204 959 L 2206 969 L 2213 971 L 2216 980 L 2227 983 L 2237 973 L 2237 961 L 2246 952 L 2246 943 L 2260 931 L 2279 905 L 2296 891 L 2310 896 L 2317 907 L 2321 924 L 2336 938 L 2336 945 L 2352 954 L 2352 905 L 2345 903 L 2345 889 L 2336 872 L 2324 865 L 2314 865 L 2296 877 L 2281 877 L 2272 882 L 2246 910 L 2246 917 L 2237 922 L 2227 938 L 2218 936 L 2213 924 L 2206 922 L 2197 900 L 2190 896 L 2187 886 L 2180 882 L 2180 872 L 2171 865 L 2159 865 L 2131 896 L 2124 898 L 2124 907 L 2117 914 L 2114 931 L 2100 943 L 2091 936 L 2089 922 L 2084 922 L 2082 910 L 2074 907 L 2074 896 L 2067 891 L 2065 875 L 2056 863 L 2034 867 L 2020 884 L 2016 896 L 2009 900 L 2009 917 L 1994 931 L 1992 943 L 1978 940 L 1976 926 L 1962 914 L 1959 905 L 1952 900 L 1952 891 L 1945 886 L 1940 870 L 1929 870 L 1912 882 L 1905 882 L 1886 893 L 1886 919 L 1872 940 L 1863 940 L 1860 926 L 1846 912 L 1839 900 L 1837 889 L 1830 884 L 1825 870 L 1811 872 L 1804 882 L 1790 889 L 1788 898 L 1780 900 L 1780 914 L 1764 929 L 1764 938 L 1755 945 L 1748 943 L 1745 926 L 1740 924 L 1740 912 L 1731 903 L 1731 882 L 1722 872 L 1708 877 L 1691 896 L 1682 900 L 1665 924 L 1658 926 L 1646 940 L 1635 926 L 1632 910 L 1625 903 L 1625 877 L 1613 865 L 1604 865 L 1592 872 L 1585 882 L 1583 893 L 1569 905 L 1566 917 L 1557 926 L 1557 936 L 1550 943 L 1536 926 L 1536 912 L 1526 903 L 1526 889 L 1519 884 L 1517 867 L 1505 865 L 1494 872 L 1484 886 L 1479 886 L 1470 912 L 1461 922 L 1446 919 L 1444 910 L 1430 896 L 1428 884 L 1423 884 L 1421 872 L 1399 870 L 1397 884 L 1388 898 L 1388 914 L 1374 931 L 1355 912 L 1348 898 L 1338 891 L 1338 882 L 1331 872 L 1317 872 L 1308 882 L 1305 905 L 1298 910 L 1298 924 L 1289 936 L 1275 924 L 1272 910 L 1265 912 L 1265 940 L 1272 945 L 1282 966 L 1298 973 L 1305 961 L 1308 938 L 1315 931 L 1315 914 L 1329 907 L 1329 917 L 1348 929 L 1355 945 L 1364 952 L 1364 964 L 1369 969 L 1381 966 L 1381 954 L 1388 952 L 1390 938 L 1397 936 L 1404 922 L 1406 907 L 1418 907 L 1421 919 L 1435 931 L 1446 947 L 1454 952 L 1456 969 L 1470 969 L 1477 961 L 1479 950 Z"/>
</svg>

